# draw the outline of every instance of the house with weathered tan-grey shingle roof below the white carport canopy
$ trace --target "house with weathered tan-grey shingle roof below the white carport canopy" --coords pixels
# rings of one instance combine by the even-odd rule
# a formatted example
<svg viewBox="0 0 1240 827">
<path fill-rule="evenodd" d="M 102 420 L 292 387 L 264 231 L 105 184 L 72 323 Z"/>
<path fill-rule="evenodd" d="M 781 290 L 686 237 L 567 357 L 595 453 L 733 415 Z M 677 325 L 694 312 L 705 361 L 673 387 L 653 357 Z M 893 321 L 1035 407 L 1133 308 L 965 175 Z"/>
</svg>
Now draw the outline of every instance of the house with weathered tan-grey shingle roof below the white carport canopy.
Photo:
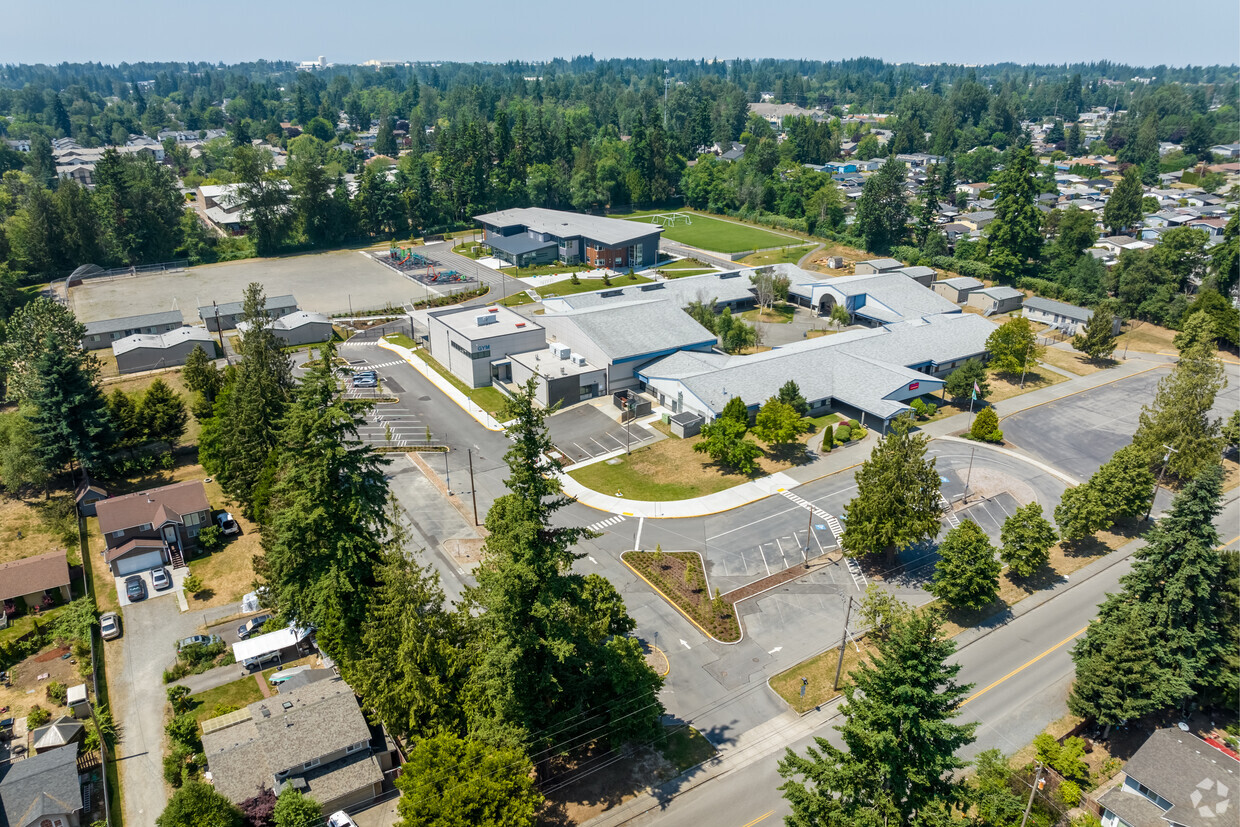
<svg viewBox="0 0 1240 827">
<path fill-rule="evenodd" d="M 394 769 L 394 744 L 371 728 L 340 678 L 315 681 L 202 723 L 211 781 L 233 803 L 291 786 L 325 813 L 371 801 Z"/>
</svg>

